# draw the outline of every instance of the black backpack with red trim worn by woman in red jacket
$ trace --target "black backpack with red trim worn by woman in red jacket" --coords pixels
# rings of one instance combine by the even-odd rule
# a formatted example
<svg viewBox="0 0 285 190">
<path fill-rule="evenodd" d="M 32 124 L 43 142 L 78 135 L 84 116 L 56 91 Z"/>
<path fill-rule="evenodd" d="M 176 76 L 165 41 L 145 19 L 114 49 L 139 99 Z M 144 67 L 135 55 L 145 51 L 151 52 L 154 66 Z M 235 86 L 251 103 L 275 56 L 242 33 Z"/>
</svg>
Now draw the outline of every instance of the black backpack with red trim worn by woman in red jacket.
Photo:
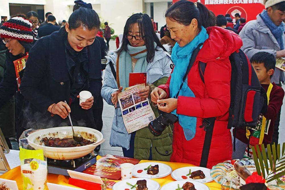
<svg viewBox="0 0 285 190">
<path fill-rule="evenodd" d="M 228 128 L 254 127 L 260 113 L 267 111 L 267 97 L 255 70 L 245 53 L 239 49 L 229 56 L 231 62 L 231 103 Z M 199 62 L 200 77 L 204 81 L 206 63 Z M 207 167 L 215 117 L 203 119 L 206 131 L 200 166 Z M 234 135 L 235 136 L 235 135 Z M 235 141 L 235 140 L 234 140 Z M 235 147 L 234 147 L 235 150 Z"/>
</svg>

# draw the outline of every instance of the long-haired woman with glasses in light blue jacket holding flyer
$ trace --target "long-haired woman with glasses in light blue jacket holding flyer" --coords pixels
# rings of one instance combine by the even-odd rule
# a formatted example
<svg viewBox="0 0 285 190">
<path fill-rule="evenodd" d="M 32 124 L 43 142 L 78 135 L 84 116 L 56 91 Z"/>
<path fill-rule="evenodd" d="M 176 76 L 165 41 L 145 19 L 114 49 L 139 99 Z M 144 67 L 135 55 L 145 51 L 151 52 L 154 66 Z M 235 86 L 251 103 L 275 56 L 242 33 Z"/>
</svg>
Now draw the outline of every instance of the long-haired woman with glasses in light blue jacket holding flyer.
<svg viewBox="0 0 285 190">
<path fill-rule="evenodd" d="M 128 134 L 117 95 L 129 87 L 129 73 L 146 73 L 147 86 L 139 91 L 139 96 L 149 97 L 150 88 L 154 88 L 153 84 L 165 83 L 168 79 L 172 63 L 170 55 L 160 44 L 146 14 L 132 15 L 125 24 L 123 35 L 122 46 L 108 57 L 101 91 L 107 103 L 115 107 L 110 144 L 122 147 L 124 156 L 129 158 L 169 160 L 172 153 L 170 126 L 160 137 L 154 137 L 147 127 Z M 112 73 L 111 67 L 117 72 Z M 155 113 L 157 116 L 158 112 Z"/>
</svg>

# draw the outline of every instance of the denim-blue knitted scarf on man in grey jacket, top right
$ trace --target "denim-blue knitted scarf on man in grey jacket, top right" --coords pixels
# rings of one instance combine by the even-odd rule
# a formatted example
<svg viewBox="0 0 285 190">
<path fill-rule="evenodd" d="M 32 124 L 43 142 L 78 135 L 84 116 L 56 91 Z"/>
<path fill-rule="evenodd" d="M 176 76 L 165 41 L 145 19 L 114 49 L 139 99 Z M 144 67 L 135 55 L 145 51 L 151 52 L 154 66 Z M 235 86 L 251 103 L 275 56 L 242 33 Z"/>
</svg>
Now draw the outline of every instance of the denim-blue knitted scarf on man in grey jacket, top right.
<svg viewBox="0 0 285 190">
<path fill-rule="evenodd" d="M 279 26 L 276 26 L 268 16 L 266 10 L 263 10 L 262 13 L 260 13 L 259 15 L 262 18 L 263 22 L 266 24 L 266 26 L 269 28 L 269 30 L 272 32 L 273 36 L 276 38 L 280 46 L 280 50 L 284 50 L 284 23 L 282 22 Z"/>
</svg>

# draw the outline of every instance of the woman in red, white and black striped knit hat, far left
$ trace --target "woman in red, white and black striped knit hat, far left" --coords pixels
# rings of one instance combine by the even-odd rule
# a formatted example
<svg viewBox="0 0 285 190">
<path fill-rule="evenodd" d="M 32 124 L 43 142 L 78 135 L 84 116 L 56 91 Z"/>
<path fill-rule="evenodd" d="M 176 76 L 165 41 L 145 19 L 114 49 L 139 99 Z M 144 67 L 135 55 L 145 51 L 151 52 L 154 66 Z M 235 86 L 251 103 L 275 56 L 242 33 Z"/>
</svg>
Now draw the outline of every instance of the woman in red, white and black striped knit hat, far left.
<svg viewBox="0 0 285 190">
<path fill-rule="evenodd" d="M 36 33 L 32 31 L 32 24 L 24 18 L 25 15 L 18 15 L 5 22 L 0 29 L 0 37 L 3 39 L 6 51 L 5 74 L 0 83 L 0 108 L 5 106 L 9 99 L 16 95 L 17 131 L 21 126 L 19 112 L 22 107 L 23 97 L 18 92 L 16 71 L 13 61 L 18 60 L 30 51 Z M 9 129 L 13 131 L 13 129 Z M 2 129 L 4 132 L 4 130 Z M 5 134 L 4 134 L 5 135 Z M 9 141 L 7 141 L 9 143 Z"/>
</svg>

